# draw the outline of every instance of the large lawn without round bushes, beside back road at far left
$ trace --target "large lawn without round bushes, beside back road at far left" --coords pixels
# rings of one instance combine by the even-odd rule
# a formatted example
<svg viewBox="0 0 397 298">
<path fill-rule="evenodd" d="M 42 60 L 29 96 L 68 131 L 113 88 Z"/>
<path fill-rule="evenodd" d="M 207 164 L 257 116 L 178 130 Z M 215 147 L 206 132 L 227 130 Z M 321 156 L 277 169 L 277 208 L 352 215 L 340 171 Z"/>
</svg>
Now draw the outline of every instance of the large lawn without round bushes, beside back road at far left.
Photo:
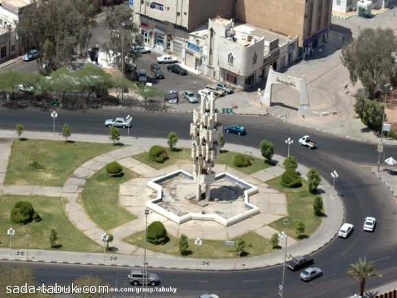
<svg viewBox="0 0 397 298">
<path fill-rule="evenodd" d="M 60 187 L 81 164 L 111 150 L 110 143 L 14 140 L 4 184 Z"/>
</svg>

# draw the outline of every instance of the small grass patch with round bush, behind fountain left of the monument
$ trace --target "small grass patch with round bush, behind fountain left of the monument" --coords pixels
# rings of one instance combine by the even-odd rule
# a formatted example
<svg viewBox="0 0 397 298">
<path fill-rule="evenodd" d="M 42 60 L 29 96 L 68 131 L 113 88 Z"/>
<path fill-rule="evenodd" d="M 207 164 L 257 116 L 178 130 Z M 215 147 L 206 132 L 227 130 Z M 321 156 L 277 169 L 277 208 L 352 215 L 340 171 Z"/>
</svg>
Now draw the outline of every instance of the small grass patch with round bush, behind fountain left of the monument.
<svg viewBox="0 0 397 298">
<path fill-rule="evenodd" d="M 132 156 L 136 160 L 151 166 L 153 169 L 159 170 L 164 169 L 166 166 L 170 166 L 171 164 L 176 164 L 177 162 L 190 162 L 192 164 L 192 150 L 190 148 L 175 148 L 170 151 L 169 148 L 166 148 L 168 154 L 168 160 L 164 163 L 153 162 L 153 160 L 149 160 L 149 152 L 143 152 Z"/>
</svg>

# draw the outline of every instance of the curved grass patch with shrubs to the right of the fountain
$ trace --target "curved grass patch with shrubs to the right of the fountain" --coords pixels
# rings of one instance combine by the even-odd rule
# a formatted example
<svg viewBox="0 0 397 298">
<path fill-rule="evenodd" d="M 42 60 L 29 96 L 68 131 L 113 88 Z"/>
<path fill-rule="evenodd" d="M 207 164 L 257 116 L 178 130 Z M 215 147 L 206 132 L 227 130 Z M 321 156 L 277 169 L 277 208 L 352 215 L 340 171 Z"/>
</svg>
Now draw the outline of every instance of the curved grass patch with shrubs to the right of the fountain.
<svg viewBox="0 0 397 298">
<path fill-rule="evenodd" d="M 279 190 L 281 193 L 285 193 L 287 197 L 287 210 L 288 216 L 283 217 L 277 221 L 269 224 L 270 227 L 277 229 L 278 231 L 285 231 L 284 219 L 288 219 L 290 223 L 288 224 L 288 236 L 293 238 L 298 238 L 296 234 L 296 223 L 303 221 L 306 225 L 305 234 L 311 235 L 318 227 L 320 227 L 322 222 L 322 217 L 314 216 L 313 213 L 313 201 L 314 195 L 309 192 L 307 188 L 307 181 L 302 179 L 302 186 L 299 188 L 286 188 L 281 185 L 281 176 L 275 177 L 266 181 L 268 186 Z"/>
</svg>

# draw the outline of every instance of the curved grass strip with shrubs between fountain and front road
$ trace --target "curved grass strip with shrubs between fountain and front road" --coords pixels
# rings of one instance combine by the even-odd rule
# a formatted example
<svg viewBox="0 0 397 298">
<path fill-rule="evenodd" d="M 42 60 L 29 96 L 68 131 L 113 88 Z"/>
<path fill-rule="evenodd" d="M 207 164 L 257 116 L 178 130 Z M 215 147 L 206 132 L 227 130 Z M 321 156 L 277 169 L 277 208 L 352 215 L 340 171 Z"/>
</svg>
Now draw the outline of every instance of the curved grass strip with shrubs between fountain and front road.
<svg viewBox="0 0 397 298">
<path fill-rule="evenodd" d="M 169 241 L 164 245 L 153 245 L 152 243 L 146 242 L 146 248 L 151 251 L 159 253 L 166 253 L 172 256 L 181 257 L 179 253 L 179 238 L 172 235 L 168 235 Z M 233 238 L 231 240 L 236 241 L 240 237 Z M 266 253 L 272 253 L 274 249 L 270 245 L 269 240 L 255 234 L 254 232 L 248 232 L 242 236 L 246 240 L 246 248 L 244 256 L 255 257 L 261 256 Z M 127 243 L 136 245 L 137 247 L 144 247 L 144 231 L 133 234 L 124 239 Z M 194 239 L 189 239 L 189 253 L 185 258 L 197 258 L 197 247 L 194 245 Z M 243 255 L 242 255 L 243 256 Z M 231 259 L 238 258 L 237 253 L 233 251 L 233 247 L 225 247 L 225 241 L 221 240 L 205 240 L 203 239 L 203 245 L 200 247 L 199 258 L 203 259 Z"/>
</svg>

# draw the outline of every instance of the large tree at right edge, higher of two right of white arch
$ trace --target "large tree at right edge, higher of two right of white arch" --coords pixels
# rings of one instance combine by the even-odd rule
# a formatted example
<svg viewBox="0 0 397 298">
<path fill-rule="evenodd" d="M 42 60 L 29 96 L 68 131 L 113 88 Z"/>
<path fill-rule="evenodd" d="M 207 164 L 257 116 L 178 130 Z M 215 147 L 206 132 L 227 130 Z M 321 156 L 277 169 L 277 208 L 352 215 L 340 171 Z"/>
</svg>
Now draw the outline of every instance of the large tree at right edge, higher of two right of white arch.
<svg viewBox="0 0 397 298">
<path fill-rule="evenodd" d="M 381 48 L 379 45 L 383 45 Z M 366 28 L 358 38 L 342 49 L 342 62 L 354 85 L 358 79 L 374 98 L 376 86 L 390 82 L 396 70 L 391 53 L 396 51 L 397 38 L 392 29 Z"/>
</svg>

